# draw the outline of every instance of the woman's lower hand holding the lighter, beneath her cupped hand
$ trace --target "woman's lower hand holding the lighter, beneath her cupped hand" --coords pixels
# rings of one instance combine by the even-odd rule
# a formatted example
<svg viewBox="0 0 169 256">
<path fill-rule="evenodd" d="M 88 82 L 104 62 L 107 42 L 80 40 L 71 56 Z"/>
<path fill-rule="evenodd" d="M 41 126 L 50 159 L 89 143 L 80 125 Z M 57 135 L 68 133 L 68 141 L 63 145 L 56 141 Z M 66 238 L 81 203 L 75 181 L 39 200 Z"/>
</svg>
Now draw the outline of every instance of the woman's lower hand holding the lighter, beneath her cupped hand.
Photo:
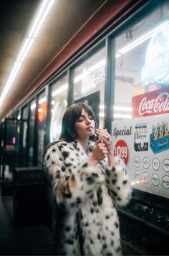
<svg viewBox="0 0 169 256">
<path fill-rule="evenodd" d="M 95 145 L 92 149 L 92 155 L 89 158 L 90 163 L 97 164 L 107 157 L 108 149 L 107 146 L 102 140 L 95 142 Z"/>
</svg>

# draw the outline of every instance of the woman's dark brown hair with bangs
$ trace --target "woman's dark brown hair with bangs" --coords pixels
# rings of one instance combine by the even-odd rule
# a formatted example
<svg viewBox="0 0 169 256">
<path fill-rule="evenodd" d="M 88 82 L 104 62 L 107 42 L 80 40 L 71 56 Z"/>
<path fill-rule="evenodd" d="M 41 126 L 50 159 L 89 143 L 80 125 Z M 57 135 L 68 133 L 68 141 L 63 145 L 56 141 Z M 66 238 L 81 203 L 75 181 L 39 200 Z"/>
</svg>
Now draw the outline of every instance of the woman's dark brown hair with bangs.
<svg viewBox="0 0 169 256">
<path fill-rule="evenodd" d="M 95 128 L 97 128 L 95 115 L 93 113 L 92 108 L 90 108 L 89 105 L 85 103 L 76 103 L 76 104 L 70 105 L 69 108 L 67 108 L 62 118 L 62 131 L 60 134 L 59 141 L 61 140 L 61 141 L 71 142 L 76 139 L 76 133 L 74 131 L 74 123 L 80 117 L 82 113 L 82 109 L 84 109 L 89 115 L 92 116 L 93 120 L 95 121 Z M 90 136 L 90 138 L 92 139 L 92 141 L 95 140 L 95 136 Z"/>
</svg>

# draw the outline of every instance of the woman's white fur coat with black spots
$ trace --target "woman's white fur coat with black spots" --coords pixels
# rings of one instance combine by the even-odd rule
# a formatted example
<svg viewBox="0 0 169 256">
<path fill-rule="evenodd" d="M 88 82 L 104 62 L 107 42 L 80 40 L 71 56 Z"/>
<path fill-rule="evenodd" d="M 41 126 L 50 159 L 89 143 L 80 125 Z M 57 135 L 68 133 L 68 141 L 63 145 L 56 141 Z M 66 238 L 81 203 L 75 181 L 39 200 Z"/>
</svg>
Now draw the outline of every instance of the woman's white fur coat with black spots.
<svg viewBox="0 0 169 256">
<path fill-rule="evenodd" d="M 127 204 L 131 194 L 123 161 L 94 166 L 77 140 L 59 141 L 44 154 L 44 169 L 60 212 L 54 222 L 55 254 L 121 255 L 116 207 Z"/>
</svg>

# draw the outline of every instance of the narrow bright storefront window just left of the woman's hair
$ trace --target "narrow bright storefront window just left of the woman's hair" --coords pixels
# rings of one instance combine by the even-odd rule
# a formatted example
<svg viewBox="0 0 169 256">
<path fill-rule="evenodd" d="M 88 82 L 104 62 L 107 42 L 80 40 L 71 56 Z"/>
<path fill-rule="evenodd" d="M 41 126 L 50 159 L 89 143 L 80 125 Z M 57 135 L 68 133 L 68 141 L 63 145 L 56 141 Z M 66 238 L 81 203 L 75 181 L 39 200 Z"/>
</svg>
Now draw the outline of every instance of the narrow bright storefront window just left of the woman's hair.
<svg viewBox="0 0 169 256">
<path fill-rule="evenodd" d="M 62 117 L 65 110 L 67 109 L 67 91 L 68 91 L 68 80 L 67 75 L 64 75 L 57 82 L 51 85 L 50 95 L 50 110 L 51 110 L 51 121 L 50 121 L 50 141 L 57 141 L 60 136 Z"/>
</svg>

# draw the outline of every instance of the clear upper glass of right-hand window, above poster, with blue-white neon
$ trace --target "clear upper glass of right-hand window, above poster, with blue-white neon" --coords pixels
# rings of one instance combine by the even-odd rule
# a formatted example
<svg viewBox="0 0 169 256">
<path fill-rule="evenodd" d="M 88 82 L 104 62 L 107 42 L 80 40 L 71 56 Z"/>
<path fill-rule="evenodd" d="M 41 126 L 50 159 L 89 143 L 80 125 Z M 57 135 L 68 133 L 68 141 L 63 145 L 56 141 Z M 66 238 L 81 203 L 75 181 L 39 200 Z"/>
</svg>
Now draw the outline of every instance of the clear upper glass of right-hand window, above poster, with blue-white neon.
<svg viewBox="0 0 169 256">
<path fill-rule="evenodd" d="M 114 119 L 132 118 L 132 97 L 168 87 L 169 3 L 115 39 Z"/>
</svg>

